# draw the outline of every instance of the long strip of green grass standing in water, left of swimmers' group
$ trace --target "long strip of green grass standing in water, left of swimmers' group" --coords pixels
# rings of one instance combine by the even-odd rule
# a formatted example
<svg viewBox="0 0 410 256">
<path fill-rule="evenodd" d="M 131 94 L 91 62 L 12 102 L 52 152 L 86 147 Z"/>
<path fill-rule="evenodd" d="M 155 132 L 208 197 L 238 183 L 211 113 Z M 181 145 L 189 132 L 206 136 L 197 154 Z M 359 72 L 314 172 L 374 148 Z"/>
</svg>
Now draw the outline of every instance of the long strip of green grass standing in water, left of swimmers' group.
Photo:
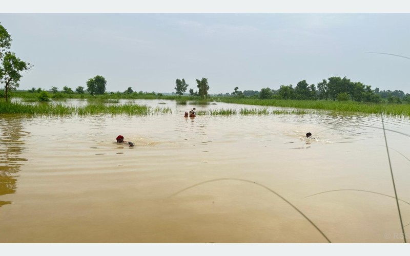
<svg viewBox="0 0 410 256">
<path fill-rule="evenodd" d="M 170 114 L 170 108 L 155 109 L 147 105 L 137 104 L 89 104 L 86 106 L 67 106 L 61 103 L 23 104 L 19 102 L 5 103 L 0 101 L 0 113 L 4 114 L 48 114 L 48 115 L 93 115 L 93 114 L 128 114 L 154 115 Z"/>
</svg>

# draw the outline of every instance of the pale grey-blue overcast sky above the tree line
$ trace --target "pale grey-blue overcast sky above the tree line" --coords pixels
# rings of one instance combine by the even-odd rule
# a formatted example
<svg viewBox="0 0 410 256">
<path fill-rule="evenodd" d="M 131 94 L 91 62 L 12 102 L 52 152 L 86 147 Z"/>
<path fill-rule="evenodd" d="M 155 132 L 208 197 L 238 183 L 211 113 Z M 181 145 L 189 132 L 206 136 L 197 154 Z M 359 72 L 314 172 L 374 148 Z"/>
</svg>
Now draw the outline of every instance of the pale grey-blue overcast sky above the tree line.
<svg viewBox="0 0 410 256">
<path fill-rule="evenodd" d="M 409 13 L 0 13 L 20 59 L 21 90 L 175 92 L 208 78 L 209 93 L 340 76 L 410 93 Z M 188 92 L 188 90 L 187 90 Z"/>
</svg>

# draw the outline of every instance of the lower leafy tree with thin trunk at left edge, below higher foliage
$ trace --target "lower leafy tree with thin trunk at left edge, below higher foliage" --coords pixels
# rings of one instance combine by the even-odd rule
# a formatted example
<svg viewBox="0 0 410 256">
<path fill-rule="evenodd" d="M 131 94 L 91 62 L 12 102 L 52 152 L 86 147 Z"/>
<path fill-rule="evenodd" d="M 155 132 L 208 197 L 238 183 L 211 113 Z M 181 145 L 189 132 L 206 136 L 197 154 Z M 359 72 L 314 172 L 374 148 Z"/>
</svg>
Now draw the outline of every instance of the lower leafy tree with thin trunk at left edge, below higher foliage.
<svg viewBox="0 0 410 256">
<path fill-rule="evenodd" d="M 7 93 L 9 90 L 17 89 L 20 72 L 29 71 L 33 66 L 16 57 L 15 53 L 7 52 L 3 59 L 3 68 L 0 68 L 0 82 L 5 84 L 5 99 L 8 102 Z"/>
</svg>

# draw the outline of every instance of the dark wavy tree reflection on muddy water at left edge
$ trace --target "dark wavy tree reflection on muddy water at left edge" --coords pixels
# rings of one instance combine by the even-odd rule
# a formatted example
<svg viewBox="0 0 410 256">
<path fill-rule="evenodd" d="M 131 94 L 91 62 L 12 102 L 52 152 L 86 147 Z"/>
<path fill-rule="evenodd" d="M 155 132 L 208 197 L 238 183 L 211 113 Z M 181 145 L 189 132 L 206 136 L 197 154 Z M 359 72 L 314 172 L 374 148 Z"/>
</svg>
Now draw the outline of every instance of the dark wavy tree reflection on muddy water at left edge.
<svg viewBox="0 0 410 256">
<path fill-rule="evenodd" d="M 16 178 L 20 166 L 27 161 L 26 158 L 19 157 L 24 150 L 23 136 L 25 135 L 20 117 L 14 115 L 0 117 L 0 196 L 13 194 L 16 191 Z M 11 201 L 0 200 L 0 207 L 11 203 Z"/>
</svg>

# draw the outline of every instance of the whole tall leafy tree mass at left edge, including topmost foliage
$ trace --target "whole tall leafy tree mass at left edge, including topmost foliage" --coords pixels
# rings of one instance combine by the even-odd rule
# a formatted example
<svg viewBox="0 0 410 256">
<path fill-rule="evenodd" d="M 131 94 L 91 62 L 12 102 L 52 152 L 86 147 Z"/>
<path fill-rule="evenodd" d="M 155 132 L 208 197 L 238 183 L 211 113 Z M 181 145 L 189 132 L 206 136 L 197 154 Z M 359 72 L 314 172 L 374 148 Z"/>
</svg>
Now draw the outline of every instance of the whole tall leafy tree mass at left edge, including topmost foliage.
<svg viewBox="0 0 410 256">
<path fill-rule="evenodd" d="M 15 90 L 19 86 L 22 71 L 31 69 L 30 63 L 16 57 L 15 53 L 10 52 L 11 37 L 7 30 L 0 24 L 0 83 L 5 86 L 5 99 L 8 102 L 7 93 Z"/>
</svg>

